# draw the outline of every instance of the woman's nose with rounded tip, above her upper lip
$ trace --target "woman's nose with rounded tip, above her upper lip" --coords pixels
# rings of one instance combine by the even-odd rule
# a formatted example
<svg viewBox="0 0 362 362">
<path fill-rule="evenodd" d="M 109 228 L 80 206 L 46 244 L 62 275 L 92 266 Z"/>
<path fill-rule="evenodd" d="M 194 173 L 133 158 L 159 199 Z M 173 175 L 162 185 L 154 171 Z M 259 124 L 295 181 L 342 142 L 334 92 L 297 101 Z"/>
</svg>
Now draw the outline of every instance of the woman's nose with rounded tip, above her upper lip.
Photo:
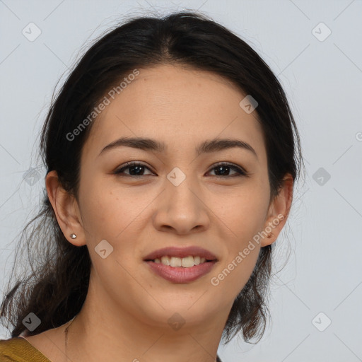
<svg viewBox="0 0 362 362">
<path fill-rule="evenodd" d="M 189 180 L 190 177 L 186 177 L 177 186 L 166 180 L 165 191 L 153 214 L 153 226 L 157 230 L 186 235 L 209 228 L 211 211 L 206 206 L 206 196 Z"/>
</svg>

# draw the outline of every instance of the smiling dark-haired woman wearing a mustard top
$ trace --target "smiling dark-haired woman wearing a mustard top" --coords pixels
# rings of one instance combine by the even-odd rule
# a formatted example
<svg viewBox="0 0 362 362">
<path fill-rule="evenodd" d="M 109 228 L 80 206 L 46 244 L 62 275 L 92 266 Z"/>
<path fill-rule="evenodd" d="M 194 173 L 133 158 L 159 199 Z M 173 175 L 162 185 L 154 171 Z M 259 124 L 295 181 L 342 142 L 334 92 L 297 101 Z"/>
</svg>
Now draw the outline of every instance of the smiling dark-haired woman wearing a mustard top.
<svg viewBox="0 0 362 362">
<path fill-rule="evenodd" d="M 249 45 L 191 12 L 115 28 L 52 103 L 41 151 L 37 264 L 3 300 L 4 361 L 220 361 L 221 339 L 261 339 L 303 161 Z"/>
</svg>

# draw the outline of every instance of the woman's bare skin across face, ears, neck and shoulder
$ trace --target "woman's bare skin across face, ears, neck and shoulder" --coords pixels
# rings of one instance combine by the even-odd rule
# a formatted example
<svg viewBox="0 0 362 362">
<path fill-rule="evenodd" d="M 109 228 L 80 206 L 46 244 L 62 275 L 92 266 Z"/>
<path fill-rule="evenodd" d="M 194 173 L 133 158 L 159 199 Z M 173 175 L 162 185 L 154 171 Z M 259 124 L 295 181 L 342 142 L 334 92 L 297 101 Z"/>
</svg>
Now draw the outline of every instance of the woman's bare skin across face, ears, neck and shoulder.
<svg viewBox="0 0 362 362">
<path fill-rule="evenodd" d="M 55 171 L 47 175 L 59 226 L 69 243 L 87 245 L 93 264 L 86 302 L 69 328 L 69 359 L 64 355 L 69 323 L 27 337 L 52 361 L 151 362 L 161 356 L 171 362 L 216 361 L 233 301 L 260 247 L 274 243 L 288 216 L 292 177 L 286 175 L 279 196 L 269 204 L 262 128 L 256 112 L 247 114 L 239 106 L 245 94 L 206 71 L 172 65 L 139 71 L 94 121 L 82 152 L 78 200 L 64 192 Z M 165 150 L 122 146 L 99 156 L 121 136 L 163 141 Z M 197 156 L 195 148 L 216 137 L 245 141 L 257 157 L 237 147 Z M 130 169 L 113 173 L 132 160 L 146 165 L 143 176 L 130 176 Z M 221 161 L 244 168 L 249 176 L 235 177 L 232 169 L 223 176 L 215 169 Z M 186 176 L 178 186 L 167 178 L 175 167 Z M 280 214 L 286 217 L 271 238 L 255 244 L 218 286 L 212 285 L 211 278 Z M 95 252 L 100 240 L 114 248 L 105 259 Z M 191 283 L 166 281 L 143 261 L 161 247 L 190 245 L 218 259 L 209 274 Z M 168 324 L 174 313 L 185 320 L 178 330 Z"/>
</svg>

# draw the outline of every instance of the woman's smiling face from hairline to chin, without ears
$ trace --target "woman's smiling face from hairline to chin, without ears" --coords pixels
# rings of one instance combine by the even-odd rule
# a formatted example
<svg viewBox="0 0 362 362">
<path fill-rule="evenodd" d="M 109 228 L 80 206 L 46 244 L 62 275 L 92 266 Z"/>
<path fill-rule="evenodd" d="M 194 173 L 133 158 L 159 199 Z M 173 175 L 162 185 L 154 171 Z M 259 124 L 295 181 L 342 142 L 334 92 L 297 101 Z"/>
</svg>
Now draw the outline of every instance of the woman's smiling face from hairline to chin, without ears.
<svg viewBox="0 0 362 362">
<path fill-rule="evenodd" d="M 149 325 L 175 312 L 189 325 L 222 311 L 227 317 L 255 267 L 261 245 L 240 252 L 267 226 L 270 189 L 262 128 L 255 112 L 240 107 L 243 98 L 206 71 L 139 69 L 94 121 L 83 147 L 78 208 L 91 284 Z M 146 141 L 105 148 L 135 137 L 163 148 Z M 215 142 L 222 139 L 248 146 Z M 164 247 L 201 247 L 214 261 L 183 274 L 145 261 Z M 196 260 L 202 253 L 189 251 Z"/>
</svg>

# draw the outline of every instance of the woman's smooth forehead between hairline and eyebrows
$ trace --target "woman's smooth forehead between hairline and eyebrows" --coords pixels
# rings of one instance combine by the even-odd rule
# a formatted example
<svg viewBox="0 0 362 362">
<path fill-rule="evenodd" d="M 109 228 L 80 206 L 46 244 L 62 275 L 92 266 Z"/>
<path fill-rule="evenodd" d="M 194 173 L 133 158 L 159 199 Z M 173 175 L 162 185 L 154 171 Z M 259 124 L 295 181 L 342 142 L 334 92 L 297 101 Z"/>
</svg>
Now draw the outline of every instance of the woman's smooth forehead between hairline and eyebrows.
<svg viewBox="0 0 362 362">
<path fill-rule="evenodd" d="M 171 65 L 139 69 L 93 121 L 84 150 L 95 157 L 121 136 L 157 139 L 165 143 L 165 152 L 194 148 L 205 139 L 238 137 L 265 158 L 257 113 L 247 114 L 239 105 L 245 95 L 209 71 Z"/>
</svg>

